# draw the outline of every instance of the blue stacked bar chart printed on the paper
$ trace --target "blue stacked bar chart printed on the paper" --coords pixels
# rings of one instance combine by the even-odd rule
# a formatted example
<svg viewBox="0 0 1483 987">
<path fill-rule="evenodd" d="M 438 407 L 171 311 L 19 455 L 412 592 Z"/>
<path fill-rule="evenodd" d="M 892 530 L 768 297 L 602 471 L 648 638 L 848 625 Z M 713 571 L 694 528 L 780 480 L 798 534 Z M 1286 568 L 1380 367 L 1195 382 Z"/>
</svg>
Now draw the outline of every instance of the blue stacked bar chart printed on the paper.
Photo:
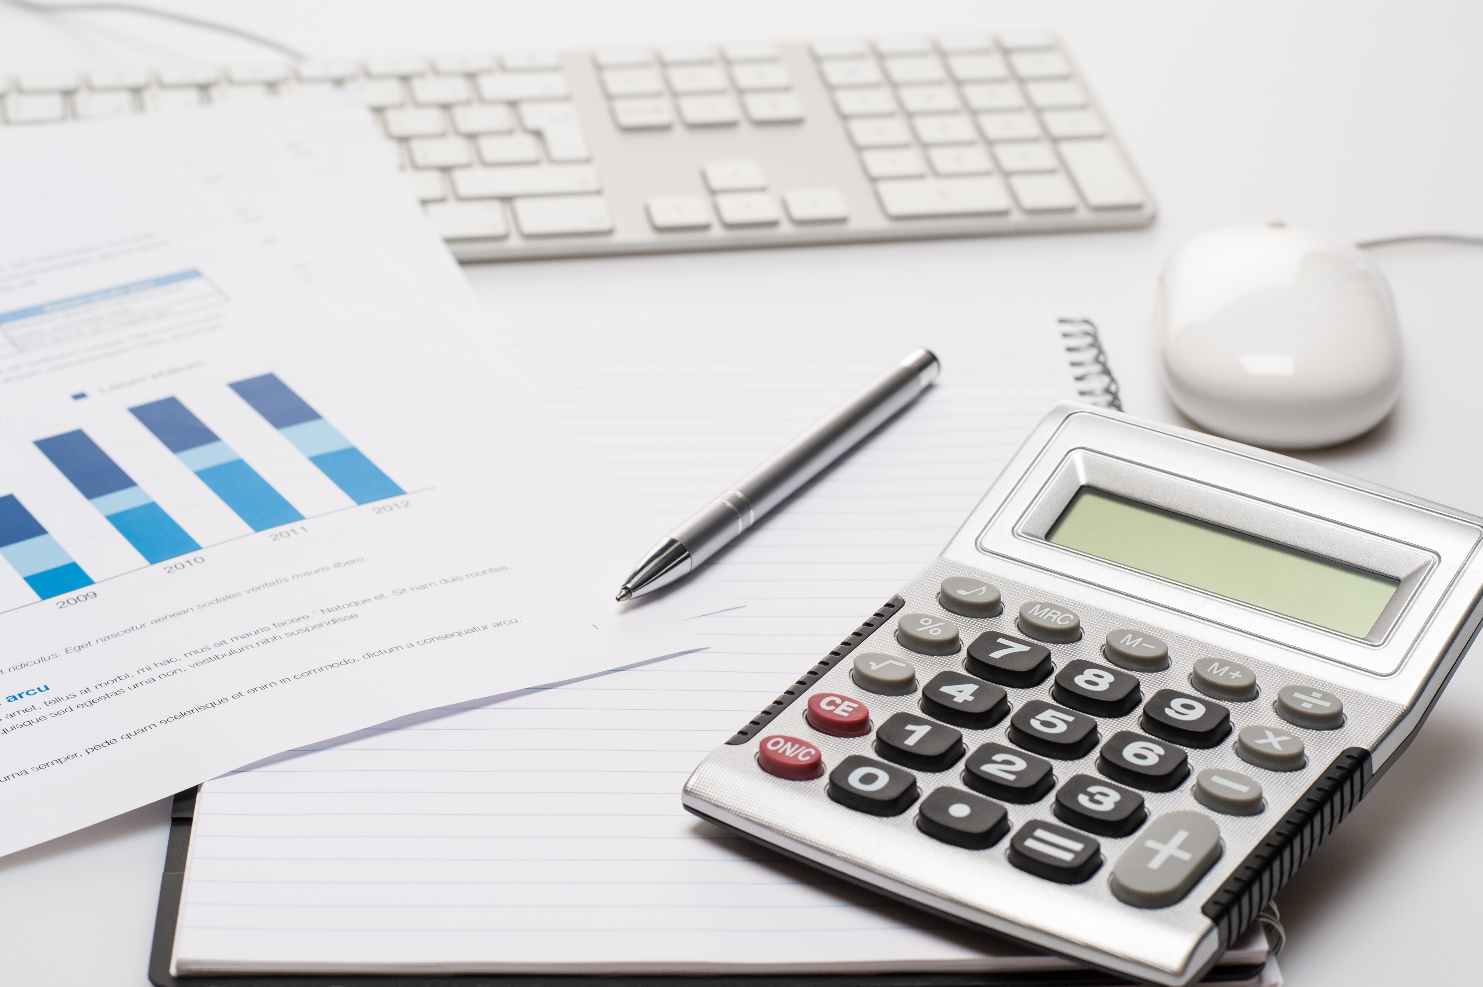
<svg viewBox="0 0 1483 987">
<path fill-rule="evenodd" d="M 114 406 L 76 419 L 83 427 L 25 442 L 44 462 L 39 458 L 43 468 L 0 479 L 0 489 L 10 489 L 0 494 L 0 559 L 25 584 L 9 578 L 12 588 L 0 591 L 0 611 L 249 531 L 405 494 L 274 373 L 205 385 L 187 397 L 191 405 L 171 396 Z M 129 419 L 135 424 L 128 425 Z M 222 431 L 236 439 L 228 443 Z M 101 514 L 107 525 L 82 523 L 79 510 L 95 519 Z M 99 539 L 114 539 L 114 545 L 99 547 Z"/>
</svg>

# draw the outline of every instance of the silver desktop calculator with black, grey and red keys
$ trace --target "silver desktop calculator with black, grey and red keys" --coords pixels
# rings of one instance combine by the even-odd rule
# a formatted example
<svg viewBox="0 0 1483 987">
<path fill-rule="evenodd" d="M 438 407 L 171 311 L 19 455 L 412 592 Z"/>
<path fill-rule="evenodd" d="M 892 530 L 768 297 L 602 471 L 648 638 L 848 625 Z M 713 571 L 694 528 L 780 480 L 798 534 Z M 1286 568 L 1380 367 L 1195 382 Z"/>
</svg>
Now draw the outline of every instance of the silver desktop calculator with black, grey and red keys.
<svg viewBox="0 0 1483 987">
<path fill-rule="evenodd" d="M 1198 980 L 1404 753 L 1483 519 L 1057 405 L 685 808 L 968 926 Z"/>
</svg>

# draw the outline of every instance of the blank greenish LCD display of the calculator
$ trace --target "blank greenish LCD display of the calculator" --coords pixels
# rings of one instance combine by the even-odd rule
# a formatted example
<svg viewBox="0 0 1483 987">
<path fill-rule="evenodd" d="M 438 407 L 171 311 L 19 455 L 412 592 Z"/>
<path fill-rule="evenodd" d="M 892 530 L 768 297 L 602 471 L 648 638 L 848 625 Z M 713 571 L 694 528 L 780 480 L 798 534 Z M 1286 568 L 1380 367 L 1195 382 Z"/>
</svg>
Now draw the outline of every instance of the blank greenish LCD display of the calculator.
<svg viewBox="0 0 1483 987">
<path fill-rule="evenodd" d="M 1364 637 L 1398 579 L 1083 486 L 1046 539 L 1266 611 Z"/>
</svg>

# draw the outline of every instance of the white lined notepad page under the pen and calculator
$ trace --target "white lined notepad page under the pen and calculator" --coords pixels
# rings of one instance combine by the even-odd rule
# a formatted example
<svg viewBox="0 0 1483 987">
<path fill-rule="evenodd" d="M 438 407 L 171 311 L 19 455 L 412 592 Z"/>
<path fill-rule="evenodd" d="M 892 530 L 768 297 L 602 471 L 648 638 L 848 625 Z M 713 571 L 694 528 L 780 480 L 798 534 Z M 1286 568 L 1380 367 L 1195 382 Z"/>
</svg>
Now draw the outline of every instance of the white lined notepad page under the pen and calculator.
<svg viewBox="0 0 1483 987">
<path fill-rule="evenodd" d="M 571 307 L 495 320 L 553 413 L 653 507 L 638 520 L 654 538 L 911 348 L 937 351 L 943 372 L 693 579 L 743 605 L 696 621 L 709 651 L 433 710 L 209 782 L 176 969 L 1063 966 L 783 861 L 679 803 L 694 765 L 930 562 L 1051 403 L 1075 397 L 1054 314 Z M 601 482 L 572 523 L 620 523 Z"/>
</svg>

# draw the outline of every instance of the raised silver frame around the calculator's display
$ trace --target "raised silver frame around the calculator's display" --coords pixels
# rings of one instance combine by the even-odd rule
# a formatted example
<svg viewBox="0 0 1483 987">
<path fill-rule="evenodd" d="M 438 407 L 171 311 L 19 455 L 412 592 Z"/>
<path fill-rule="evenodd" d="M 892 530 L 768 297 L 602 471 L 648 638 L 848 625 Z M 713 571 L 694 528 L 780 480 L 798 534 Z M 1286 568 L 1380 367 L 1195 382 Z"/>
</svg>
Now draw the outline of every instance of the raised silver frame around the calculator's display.
<svg viewBox="0 0 1483 987">
<path fill-rule="evenodd" d="M 1394 674 L 1483 531 L 1309 471 L 1298 461 L 1216 445 L 1222 442 L 1074 412 L 1011 480 L 988 522 L 979 522 L 974 547 L 1283 648 Z M 1354 637 L 1047 541 L 1083 486 L 1376 572 L 1400 585 L 1370 633 Z"/>
</svg>

